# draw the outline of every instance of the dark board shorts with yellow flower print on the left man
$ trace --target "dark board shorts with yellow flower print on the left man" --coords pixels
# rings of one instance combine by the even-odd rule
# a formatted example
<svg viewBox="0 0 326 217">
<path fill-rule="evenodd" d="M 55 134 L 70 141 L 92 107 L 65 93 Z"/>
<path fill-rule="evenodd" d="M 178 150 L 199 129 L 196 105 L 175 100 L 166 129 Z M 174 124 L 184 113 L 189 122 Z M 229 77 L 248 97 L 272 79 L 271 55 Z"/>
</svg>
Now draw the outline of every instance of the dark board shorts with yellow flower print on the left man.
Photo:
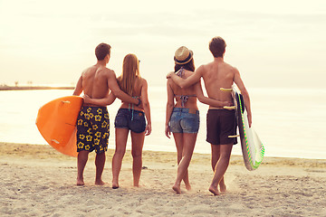
<svg viewBox="0 0 326 217">
<path fill-rule="evenodd" d="M 77 152 L 108 150 L 110 118 L 106 107 L 82 107 L 77 118 Z"/>
</svg>

